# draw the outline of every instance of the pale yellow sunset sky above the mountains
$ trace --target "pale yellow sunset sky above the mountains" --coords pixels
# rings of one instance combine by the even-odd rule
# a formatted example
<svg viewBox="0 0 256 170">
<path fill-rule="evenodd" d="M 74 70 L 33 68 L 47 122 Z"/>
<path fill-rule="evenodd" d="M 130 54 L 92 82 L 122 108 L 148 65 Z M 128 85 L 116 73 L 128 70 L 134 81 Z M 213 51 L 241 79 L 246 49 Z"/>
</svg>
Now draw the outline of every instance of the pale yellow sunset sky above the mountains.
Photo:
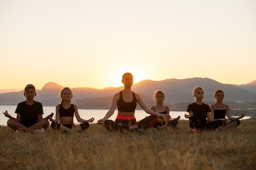
<svg viewBox="0 0 256 170">
<path fill-rule="evenodd" d="M 0 89 L 256 79 L 255 0 L 0 0 Z"/>
</svg>

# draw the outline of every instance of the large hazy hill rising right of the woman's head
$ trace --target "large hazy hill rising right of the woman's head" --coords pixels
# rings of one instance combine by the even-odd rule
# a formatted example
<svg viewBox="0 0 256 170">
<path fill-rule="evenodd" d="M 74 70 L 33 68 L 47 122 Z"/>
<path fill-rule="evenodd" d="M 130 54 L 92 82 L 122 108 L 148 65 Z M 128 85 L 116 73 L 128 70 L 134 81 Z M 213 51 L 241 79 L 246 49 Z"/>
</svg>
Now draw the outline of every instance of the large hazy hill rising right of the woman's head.
<svg viewBox="0 0 256 170">
<path fill-rule="evenodd" d="M 154 90 L 162 90 L 166 95 L 166 102 L 181 103 L 193 102 L 192 91 L 196 86 L 204 88 L 204 101 L 214 102 L 213 93 L 217 89 L 225 91 L 225 101 L 255 101 L 256 93 L 252 93 L 238 86 L 222 84 L 209 78 L 189 78 L 189 79 L 166 79 L 162 81 L 144 80 L 132 86 L 135 92 L 143 93 L 153 97 Z M 256 87 L 256 85 L 255 85 Z"/>
</svg>

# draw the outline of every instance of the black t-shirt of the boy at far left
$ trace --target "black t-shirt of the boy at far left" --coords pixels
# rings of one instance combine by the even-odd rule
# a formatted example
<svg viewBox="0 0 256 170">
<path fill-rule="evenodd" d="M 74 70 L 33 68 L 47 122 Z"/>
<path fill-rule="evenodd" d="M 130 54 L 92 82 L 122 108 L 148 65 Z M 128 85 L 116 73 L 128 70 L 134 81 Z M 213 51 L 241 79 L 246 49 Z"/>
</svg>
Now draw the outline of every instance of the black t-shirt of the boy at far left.
<svg viewBox="0 0 256 170">
<path fill-rule="evenodd" d="M 15 113 L 21 115 L 21 121 L 38 121 L 38 115 L 44 114 L 43 105 L 36 101 L 34 101 L 33 105 L 28 105 L 26 101 L 20 102 L 15 110 Z"/>
</svg>

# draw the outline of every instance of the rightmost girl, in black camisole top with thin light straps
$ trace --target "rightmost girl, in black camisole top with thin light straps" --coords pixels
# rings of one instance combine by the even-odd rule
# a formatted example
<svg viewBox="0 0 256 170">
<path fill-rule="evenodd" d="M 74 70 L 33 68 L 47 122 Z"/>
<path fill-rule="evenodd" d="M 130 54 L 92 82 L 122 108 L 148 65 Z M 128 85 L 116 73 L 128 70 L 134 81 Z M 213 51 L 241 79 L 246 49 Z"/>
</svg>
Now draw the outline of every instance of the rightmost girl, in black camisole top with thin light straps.
<svg viewBox="0 0 256 170">
<path fill-rule="evenodd" d="M 223 128 L 235 128 L 240 124 L 241 118 L 245 116 L 245 113 L 242 113 L 239 117 L 232 117 L 230 114 L 229 106 L 227 104 L 223 104 L 222 101 L 225 97 L 224 91 L 217 90 L 214 93 L 214 97 L 216 99 L 216 103 L 211 105 L 211 118 L 212 119 L 223 119 L 226 117 L 230 120 L 229 123 L 225 124 Z"/>
</svg>

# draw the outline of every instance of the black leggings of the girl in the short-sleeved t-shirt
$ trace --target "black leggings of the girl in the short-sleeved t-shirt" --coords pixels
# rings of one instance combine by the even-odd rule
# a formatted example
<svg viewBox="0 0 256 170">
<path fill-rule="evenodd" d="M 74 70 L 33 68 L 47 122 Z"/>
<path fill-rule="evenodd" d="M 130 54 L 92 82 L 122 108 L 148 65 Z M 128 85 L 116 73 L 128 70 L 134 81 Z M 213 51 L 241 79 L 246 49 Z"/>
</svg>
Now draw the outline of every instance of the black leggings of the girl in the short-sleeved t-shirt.
<svg viewBox="0 0 256 170">
<path fill-rule="evenodd" d="M 225 121 L 216 120 L 210 123 L 202 123 L 197 117 L 189 117 L 189 127 L 200 130 L 215 130 L 220 126 L 225 126 Z"/>
</svg>

